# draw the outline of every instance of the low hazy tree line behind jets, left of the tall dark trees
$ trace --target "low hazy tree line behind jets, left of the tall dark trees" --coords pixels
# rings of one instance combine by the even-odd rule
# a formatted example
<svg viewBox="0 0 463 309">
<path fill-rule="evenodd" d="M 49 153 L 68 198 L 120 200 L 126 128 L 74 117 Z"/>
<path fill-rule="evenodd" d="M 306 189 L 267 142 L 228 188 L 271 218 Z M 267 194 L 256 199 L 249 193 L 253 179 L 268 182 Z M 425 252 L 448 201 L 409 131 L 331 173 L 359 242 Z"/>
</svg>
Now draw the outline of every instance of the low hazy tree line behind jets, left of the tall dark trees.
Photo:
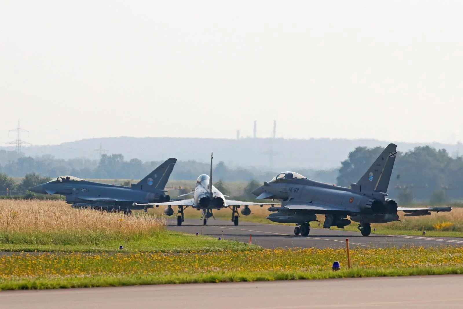
<svg viewBox="0 0 463 309">
<path fill-rule="evenodd" d="M 82 179 L 142 179 L 163 162 L 142 162 L 136 158 L 125 160 L 122 154 L 103 154 L 100 160 L 86 158 L 64 160 L 54 158 L 51 155 L 45 155 L 36 158 L 14 158 L 5 162 L 7 152 L 12 151 L 0 151 L 0 162 L 3 162 L 3 164 L 0 163 L 0 172 L 11 177 L 24 177 L 28 173 L 35 172 L 52 178 L 60 175 L 71 175 Z M 208 174 L 209 169 L 210 166 L 208 163 L 177 161 L 170 179 L 195 180 L 200 174 Z M 214 178 L 224 181 L 250 179 L 268 181 L 278 172 L 280 171 L 262 171 L 244 167 L 231 168 L 226 166 L 224 162 L 219 162 L 213 170 Z M 337 176 L 336 169 L 303 169 L 300 170 L 300 173 L 305 173 L 306 177 L 321 179 L 329 183 L 334 183 Z"/>
</svg>

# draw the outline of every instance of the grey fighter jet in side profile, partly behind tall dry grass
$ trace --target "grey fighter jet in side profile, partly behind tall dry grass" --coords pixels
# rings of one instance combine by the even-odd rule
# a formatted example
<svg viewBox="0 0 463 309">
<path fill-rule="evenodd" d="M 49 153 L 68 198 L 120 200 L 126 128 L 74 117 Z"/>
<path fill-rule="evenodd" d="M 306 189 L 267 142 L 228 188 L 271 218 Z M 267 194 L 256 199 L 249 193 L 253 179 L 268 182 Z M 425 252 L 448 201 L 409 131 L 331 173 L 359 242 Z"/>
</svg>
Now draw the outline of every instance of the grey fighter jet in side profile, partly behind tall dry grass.
<svg viewBox="0 0 463 309">
<path fill-rule="evenodd" d="M 29 189 L 41 194 L 60 194 L 66 197 L 66 203 L 74 208 L 97 208 L 106 211 L 124 211 L 130 213 L 134 203 L 169 202 L 164 187 L 177 162 L 167 159 L 150 174 L 131 187 L 95 183 L 72 176 L 60 176 L 48 183 L 42 183 Z M 146 210 L 146 208 L 145 208 Z"/>
</svg>

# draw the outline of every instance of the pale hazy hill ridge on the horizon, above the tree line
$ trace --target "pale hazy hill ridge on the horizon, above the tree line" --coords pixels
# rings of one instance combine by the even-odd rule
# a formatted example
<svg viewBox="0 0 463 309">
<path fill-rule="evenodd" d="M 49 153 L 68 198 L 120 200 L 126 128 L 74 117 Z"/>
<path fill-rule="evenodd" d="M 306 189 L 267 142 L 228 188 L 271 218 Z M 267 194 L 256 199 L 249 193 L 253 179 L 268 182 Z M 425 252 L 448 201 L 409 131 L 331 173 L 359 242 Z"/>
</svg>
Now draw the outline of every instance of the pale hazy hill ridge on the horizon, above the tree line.
<svg viewBox="0 0 463 309">
<path fill-rule="evenodd" d="M 160 161 L 169 157 L 181 161 L 195 160 L 209 162 L 211 151 L 214 162 L 224 161 L 230 167 L 266 167 L 279 170 L 285 166 L 327 169 L 340 165 L 350 151 L 357 146 L 386 146 L 394 141 L 376 139 L 198 139 L 198 138 L 134 138 L 109 137 L 82 139 L 60 145 L 36 145 L 24 148 L 25 155 L 41 156 L 51 154 L 55 158 L 98 158 L 102 145 L 107 154 L 121 153 L 126 160 L 138 158 L 142 161 Z M 416 146 L 430 145 L 444 148 L 451 156 L 463 152 L 463 144 L 402 143 L 399 151 L 408 151 Z M 6 148 L 4 148 L 6 149 Z M 8 148 L 9 149 L 9 148 Z"/>
</svg>

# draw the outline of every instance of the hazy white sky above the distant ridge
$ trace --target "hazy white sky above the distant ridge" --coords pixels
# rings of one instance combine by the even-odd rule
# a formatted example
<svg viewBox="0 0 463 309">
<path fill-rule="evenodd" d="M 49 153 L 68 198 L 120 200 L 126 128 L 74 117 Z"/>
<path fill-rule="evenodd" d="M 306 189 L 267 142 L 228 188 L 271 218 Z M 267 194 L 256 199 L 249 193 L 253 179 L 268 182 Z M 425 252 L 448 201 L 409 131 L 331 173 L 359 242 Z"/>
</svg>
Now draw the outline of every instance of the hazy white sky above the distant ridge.
<svg viewBox="0 0 463 309">
<path fill-rule="evenodd" d="M 463 140 L 461 1 L 0 2 L 0 145 Z"/>
</svg>

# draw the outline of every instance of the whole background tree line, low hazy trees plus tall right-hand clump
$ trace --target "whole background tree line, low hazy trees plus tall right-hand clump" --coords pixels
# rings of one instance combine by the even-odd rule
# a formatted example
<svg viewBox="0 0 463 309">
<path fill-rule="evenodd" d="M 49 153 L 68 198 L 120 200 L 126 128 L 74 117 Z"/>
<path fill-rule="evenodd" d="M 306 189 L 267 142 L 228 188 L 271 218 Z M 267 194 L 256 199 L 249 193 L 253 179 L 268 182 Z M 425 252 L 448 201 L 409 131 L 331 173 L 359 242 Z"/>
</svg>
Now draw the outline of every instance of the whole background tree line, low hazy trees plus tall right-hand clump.
<svg viewBox="0 0 463 309">
<path fill-rule="evenodd" d="M 338 169 L 307 170 L 292 168 L 300 174 L 326 183 L 349 186 L 362 177 L 363 173 L 381 154 L 384 147 L 357 147 L 341 162 Z M 398 152 L 389 183 L 388 195 L 402 204 L 430 201 L 442 203 L 463 199 L 463 158 L 452 158 L 444 149 L 430 146 L 416 147 L 411 151 Z M 0 151 L 0 158 L 2 157 Z M 100 160 L 56 159 L 52 156 L 38 158 L 16 158 L 0 165 L 0 191 L 6 188 L 24 190 L 34 181 L 45 182 L 50 177 L 72 175 L 80 178 L 141 179 L 154 170 L 161 161 L 142 162 L 138 159 L 125 160 L 121 154 L 102 155 Z M 172 172 L 172 180 L 194 180 L 198 175 L 209 172 L 209 164 L 196 161 L 178 161 Z M 262 171 L 252 168 L 230 168 L 219 162 L 213 176 L 226 182 L 255 180 L 269 181 L 278 171 Z M 42 176 L 41 176 L 42 175 Z M 13 177 L 24 177 L 17 185 Z M 31 186 L 31 185 L 30 185 Z M 30 187 L 29 186 L 29 187 Z"/>
</svg>

